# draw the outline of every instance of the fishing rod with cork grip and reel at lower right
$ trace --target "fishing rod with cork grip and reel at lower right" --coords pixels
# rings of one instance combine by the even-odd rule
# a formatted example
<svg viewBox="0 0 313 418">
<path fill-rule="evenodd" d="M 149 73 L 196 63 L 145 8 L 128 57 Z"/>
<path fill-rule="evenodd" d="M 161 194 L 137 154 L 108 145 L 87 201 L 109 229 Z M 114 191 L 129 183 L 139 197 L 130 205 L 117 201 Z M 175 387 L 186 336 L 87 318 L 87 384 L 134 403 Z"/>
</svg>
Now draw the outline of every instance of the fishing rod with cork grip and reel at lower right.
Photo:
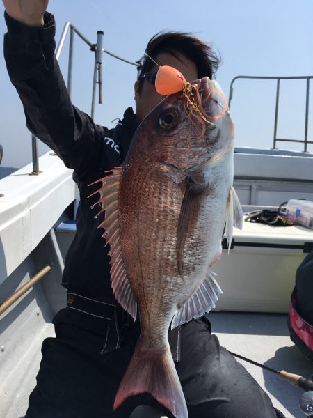
<svg viewBox="0 0 313 418">
<path fill-rule="evenodd" d="M 228 353 L 234 355 L 234 357 L 238 357 L 239 359 L 244 360 L 245 362 L 254 364 L 255 366 L 261 367 L 262 369 L 271 371 L 272 373 L 277 374 L 280 378 L 287 380 L 287 382 L 291 383 L 291 385 L 298 386 L 301 389 L 304 389 L 305 392 L 300 397 L 300 410 L 306 415 L 306 417 L 313 417 L 313 375 L 310 378 L 306 379 L 303 376 L 289 373 L 285 370 L 275 370 L 271 367 L 264 366 L 264 364 L 255 362 L 254 360 L 248 359 L 247 357 L 243 357 L 243 355 L 239 355 L 236 353 L 232 353 L 232 351 L 228 350 Z"/>
</svg>

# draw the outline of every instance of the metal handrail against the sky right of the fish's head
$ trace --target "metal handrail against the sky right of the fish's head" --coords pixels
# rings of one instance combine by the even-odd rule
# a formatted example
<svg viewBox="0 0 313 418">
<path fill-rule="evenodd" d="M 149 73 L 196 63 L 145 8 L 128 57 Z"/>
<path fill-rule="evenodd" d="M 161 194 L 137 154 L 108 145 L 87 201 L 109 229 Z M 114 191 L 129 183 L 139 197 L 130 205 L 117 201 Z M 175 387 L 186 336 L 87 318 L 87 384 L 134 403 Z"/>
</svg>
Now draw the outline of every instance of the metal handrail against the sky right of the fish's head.
<svg viewBox="0 0 313 418">
<path fill-rule="evenodd" d="M 313 141 L 308 141 L 307 133 L 309 127 L 309 99 L 310 99 L 310 79 L 313 79 L 313 75 L 303 75 L 303 76 L 291 76 L 291 77 L 279 77 L 279 76 L 272 76 L 272 77 L 262 77 L 262 76 L 253 76 L 253 75 L 237 75 L 232 79 L 230 83 L 230 94 L 229 94 L 229 107 L 232 101 L 233 96 L 233 84 L 236 79 L 275 79 L 277 80 L 276 84 L 276 104 L 275 104 L 275 123 L 274 123 L 274 135 L 273 135 L 273 149 L 276 148 L 276 143 L 278 141 L 282 142 L 300 142 L 304 144 L 304 152 L 307 152 L 307 144 L 313 144 Z M 279 95 L 280 95 L 280 80 L 282 79 L 306 79 L 306 98 L 305 98 L 305 138 L 303 140 L 300 139 L 282 139 L 277 138 L 277 124 L 278 124 L 278 106 L 279 106 Z"/>
</svg>

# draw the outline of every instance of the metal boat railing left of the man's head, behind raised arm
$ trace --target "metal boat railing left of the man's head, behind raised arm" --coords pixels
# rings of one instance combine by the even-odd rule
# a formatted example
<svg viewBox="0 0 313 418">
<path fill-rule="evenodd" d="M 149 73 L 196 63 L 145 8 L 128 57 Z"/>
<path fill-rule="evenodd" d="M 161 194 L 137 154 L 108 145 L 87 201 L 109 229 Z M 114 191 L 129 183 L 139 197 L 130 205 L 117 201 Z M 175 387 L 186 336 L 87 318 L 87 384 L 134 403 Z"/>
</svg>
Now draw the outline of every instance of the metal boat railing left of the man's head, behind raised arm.
<svg viewBox="0 0 313 418">
<path fill-rule="evenodd" d="M 90 47 L 90 51 L 94 52 L 95 56 L 95 66 L 94 66 L 94 72 L 93 72 L 93 95 L 91 99 L 91 111 L 90 116 L 93 118 L 95 114 L 95 102 L 96 102 L 96 91 L 97 91 L 97 84 L 98 84 L 98 97 L 99 97 L 99 104 L 102 103 L 102 55 L 103 53 L 109 54 L 113 56 L 115 59 L 119 59 L 120 61 L 124 61 L 125 63 L 128 63 L 130 65 L 135 65 L 138 72 L 141 70 L 141 62 L 136 61 L 132 62 L 127 59 L 124 59 L 118 55 L 113 54 L 112 52 L 109 52 L 108 50 L 104 49 L 103 47 L 103 39 L 104 39 L 104 32 L 103 31 L 97 31 L 97 42 L 93 43 L 90 42 L 86 38 L 86 36 L 83 35 L 77 29 L 76 26 L 74 26 L 72 23 L 67 22 L 65 23 L 63 27 L 63 31 L 61 34 L 61 38 L 58 42 L 58 46 L 56 47 L 56 59 L 58 60 L 60 58 L 61 52 L 63 51 L 63 47 L 65 44 L 65 39 L 67 38 L 67 33 L 70 31 L 70 46 L 69 46 L 69 52 L 68 52 L 68 70 L 67 70 L 67 91 L 70 95 L 70 98 L 72 96 L 72 74 L 73 74 L 73 56 L 74 56 L 74 35 L 77 34 L 83 42 Z M 40 173 L 39 170 L 39 155 L 38 155 L 38 138 L 35 137 L 35 135 L 31 135 L 31 142 L 32 142 L 32 154 L 33 154 L 33 172 L 32 174 L 38 174 Z"/>
</svg>

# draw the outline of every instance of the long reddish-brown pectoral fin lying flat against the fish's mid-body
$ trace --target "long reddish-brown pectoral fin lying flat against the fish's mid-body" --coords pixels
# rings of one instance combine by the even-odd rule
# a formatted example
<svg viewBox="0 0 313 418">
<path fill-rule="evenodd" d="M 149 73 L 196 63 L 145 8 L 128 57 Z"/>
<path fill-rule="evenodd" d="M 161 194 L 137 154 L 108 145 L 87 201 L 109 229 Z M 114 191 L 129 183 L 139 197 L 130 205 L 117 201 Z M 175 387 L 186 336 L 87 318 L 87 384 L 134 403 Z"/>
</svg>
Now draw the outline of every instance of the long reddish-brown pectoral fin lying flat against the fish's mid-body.
<svg viewBox="0 0 313 418">
<path fill-rule="evenodd" d="M 186 189 L 177 224 L 177 268 L 181 277 L 184 275 L 183 260 L 186 240 L 195 229 L 201 201 L 207 195 L 208 187 L 209 183 L 205 180 L 202 171 L 194 171 L 186 177 Z"/>
</svg>

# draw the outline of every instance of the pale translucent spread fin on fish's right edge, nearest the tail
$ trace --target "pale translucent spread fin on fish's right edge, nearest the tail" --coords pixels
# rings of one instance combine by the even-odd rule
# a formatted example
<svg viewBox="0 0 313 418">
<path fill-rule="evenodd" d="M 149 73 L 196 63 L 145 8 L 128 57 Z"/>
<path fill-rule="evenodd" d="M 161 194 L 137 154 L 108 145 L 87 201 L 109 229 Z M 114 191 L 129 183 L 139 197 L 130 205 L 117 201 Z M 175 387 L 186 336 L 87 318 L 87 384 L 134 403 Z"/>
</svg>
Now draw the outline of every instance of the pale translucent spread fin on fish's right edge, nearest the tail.
<svg viewBox="0 0 313 418">
<path fill-rule="evenodd" d="M 198 318 L 211 311 L 215 307 L 218 295 L 223 293 L 214 276 L 216 274 L 209 270 L 207 277 L 196 291 L 176 312 L 172 319 L 172 329 Z"/>
</svg>

